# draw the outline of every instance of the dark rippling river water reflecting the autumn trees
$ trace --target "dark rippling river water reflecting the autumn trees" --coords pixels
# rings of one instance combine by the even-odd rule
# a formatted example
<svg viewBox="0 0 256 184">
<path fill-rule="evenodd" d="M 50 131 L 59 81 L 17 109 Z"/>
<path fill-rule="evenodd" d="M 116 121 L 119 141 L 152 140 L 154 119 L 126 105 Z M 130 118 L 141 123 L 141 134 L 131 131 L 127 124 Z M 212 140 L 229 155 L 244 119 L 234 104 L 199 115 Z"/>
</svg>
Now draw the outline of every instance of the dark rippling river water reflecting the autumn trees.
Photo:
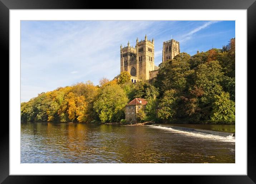
<svg viewBox="0 0 256 184">
<path fill-rule="evenodd" d="M 22 122 L 21 163 L 235 163 L 235 137 L 162 125 Z"/>
</svg>

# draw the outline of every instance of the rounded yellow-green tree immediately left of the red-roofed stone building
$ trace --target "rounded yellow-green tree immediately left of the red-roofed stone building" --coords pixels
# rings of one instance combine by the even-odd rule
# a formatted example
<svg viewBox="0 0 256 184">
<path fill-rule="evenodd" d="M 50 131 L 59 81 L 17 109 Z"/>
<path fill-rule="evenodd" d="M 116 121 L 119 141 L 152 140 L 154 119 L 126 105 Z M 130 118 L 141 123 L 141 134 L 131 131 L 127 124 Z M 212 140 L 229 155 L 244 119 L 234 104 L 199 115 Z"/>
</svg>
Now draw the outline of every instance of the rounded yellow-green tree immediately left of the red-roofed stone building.
<svg viewBox="0 0 256 184">
<path fill-rule="evenodd" d="M 117 84 L 112 84 L 101 89 L 93 107 L 102 122 L 117 122 L 124 119 L 127 103 L 128 98 L 123 89 Z"/>
</svg>

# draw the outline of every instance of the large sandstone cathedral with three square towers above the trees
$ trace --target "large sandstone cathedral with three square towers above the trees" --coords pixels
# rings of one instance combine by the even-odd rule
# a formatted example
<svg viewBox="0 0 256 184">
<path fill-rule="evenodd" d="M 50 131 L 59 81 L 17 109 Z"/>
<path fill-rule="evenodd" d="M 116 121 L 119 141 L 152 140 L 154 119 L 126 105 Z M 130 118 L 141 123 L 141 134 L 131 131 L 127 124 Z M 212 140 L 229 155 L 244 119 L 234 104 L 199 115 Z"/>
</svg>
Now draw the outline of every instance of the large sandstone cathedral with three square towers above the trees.
<svg viewBox="0 0 256 184">
<path fill-rule="evenodd" d="M 173 57 L 180 53 L 179 42 L 168 40 L 163 42 L 162 62 L 172 60 Z M 154 39 L 136 40 L 136 46 L 120 46 L 120 71 L 128 71 L 132 78 L 131 81 L 136 83 L 139 80 L 153 80 L 157 76 L 158 66 L 154 65 Z"/>
</svg>

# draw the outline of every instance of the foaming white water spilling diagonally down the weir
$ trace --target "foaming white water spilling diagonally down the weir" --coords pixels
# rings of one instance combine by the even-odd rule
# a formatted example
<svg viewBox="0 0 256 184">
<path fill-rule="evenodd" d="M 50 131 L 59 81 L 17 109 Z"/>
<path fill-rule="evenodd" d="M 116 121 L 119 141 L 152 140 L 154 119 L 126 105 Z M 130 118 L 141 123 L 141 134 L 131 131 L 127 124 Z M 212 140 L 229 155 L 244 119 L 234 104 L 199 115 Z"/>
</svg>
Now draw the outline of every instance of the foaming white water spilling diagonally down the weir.
<svg viewBox="0 0 256 184">
<path fill-rule="evenodd" d="M 202 132 L 202 134 L 200 132 L 197 132 L 197 133 L 186 132 L 186 131 L 180 131 L 180 130 L 173 129 L 171 127 L 162 127 L 161 125 L 160 126 L 148 125 L 148 126 L 150 126 L 152 128 L 164 129 L 169 132 L 181 133 L 181 134 L 184 134 L 185 136 L 194 136 L 194 137 L 208 139 L 208 140 L 217 140 L 217 141 L 221 141 L 221 142 L 232 142 L 232 143 L 235 143 L 235 141 L 236 141 L 235 137 L 233 137 L 233 136 L 222 137 L 222 136 L 216 136 L 216 135 L 212 135 L 212 134 L 206 134 L 203 132 Z"/>
</svg>

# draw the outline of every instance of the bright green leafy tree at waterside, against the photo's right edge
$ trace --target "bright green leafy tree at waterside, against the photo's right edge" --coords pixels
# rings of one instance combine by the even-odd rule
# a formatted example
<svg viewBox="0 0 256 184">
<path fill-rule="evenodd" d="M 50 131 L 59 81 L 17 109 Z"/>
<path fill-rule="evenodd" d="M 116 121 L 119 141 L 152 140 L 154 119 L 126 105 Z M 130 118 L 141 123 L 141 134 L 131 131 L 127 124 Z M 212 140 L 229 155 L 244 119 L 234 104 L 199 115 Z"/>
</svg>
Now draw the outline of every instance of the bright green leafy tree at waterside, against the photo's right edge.
<svg viewBox="0 0 256 184">
<path fill-rule="evenodd" d="M 222 92 L 215 96 L 211 121 L 215 123 L 235 123 L 235 102 L 229 99 L 228 93 Z"/>
</svg>

